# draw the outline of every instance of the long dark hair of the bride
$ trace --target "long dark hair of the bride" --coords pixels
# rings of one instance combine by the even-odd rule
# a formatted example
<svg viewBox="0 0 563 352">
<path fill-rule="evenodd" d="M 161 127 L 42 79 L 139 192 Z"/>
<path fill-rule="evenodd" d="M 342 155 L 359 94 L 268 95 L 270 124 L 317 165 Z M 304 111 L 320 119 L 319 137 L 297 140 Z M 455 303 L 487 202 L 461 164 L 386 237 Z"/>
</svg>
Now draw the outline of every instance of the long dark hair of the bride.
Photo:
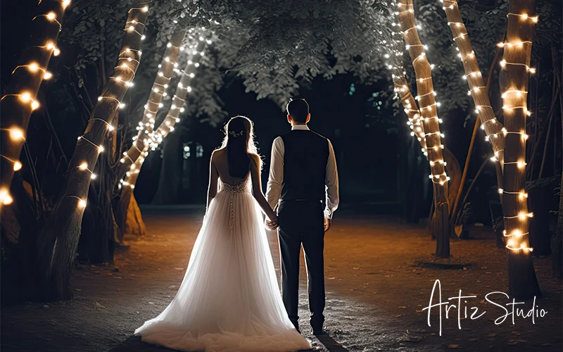
<svg viewBox="0 0 563 352">
<path fill-rule="evenodd" d="M 235 116 L 224 127 L 223 147 L 227 147 L 227 163 L 229 175 L 243 178 L 248 175 L 251 167 L 249 153 L 258 154 L 254 144 L 254 127 L 249 118 Z"/>
</svg>

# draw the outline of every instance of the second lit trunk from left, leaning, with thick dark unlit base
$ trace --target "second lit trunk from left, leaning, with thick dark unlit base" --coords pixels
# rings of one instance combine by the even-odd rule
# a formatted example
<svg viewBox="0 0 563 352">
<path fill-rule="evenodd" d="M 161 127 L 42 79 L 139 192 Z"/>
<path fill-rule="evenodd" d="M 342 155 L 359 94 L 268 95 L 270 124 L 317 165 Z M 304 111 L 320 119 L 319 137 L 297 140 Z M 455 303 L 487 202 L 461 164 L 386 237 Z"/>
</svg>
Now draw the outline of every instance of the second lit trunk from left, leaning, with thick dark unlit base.
<svg viewBox="0 0 563 352">
<path fill-rule="evenodd" d="M 80 224 L 86 206 L 91 170 L 94 170 L 102 151 L 100 146 L 110 132 L 111 119 L 139 66 L 141 36 L 147 15 L 148 1 L 134 0 L 126 23 L 127 28 L 132 27 L 134 30 L 125 30 L 113 79 L 108 80 L 103 88 L 86 131 L 78 139 L 70 161 L 63 198 L 56 204 L 39 235 L 37 251 L 45 300 L 72 298 L 72 262 L 80 237 Z"/>
</svg>

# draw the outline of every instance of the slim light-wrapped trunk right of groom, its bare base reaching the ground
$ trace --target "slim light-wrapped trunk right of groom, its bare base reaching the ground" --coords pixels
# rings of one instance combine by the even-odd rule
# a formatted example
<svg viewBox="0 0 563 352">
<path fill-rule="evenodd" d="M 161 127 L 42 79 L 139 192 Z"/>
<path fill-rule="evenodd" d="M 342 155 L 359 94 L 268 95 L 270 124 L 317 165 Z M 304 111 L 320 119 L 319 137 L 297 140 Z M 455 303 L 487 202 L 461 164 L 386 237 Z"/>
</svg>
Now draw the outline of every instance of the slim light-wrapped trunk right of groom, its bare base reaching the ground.
<svg viewBox="0 0 563 352">
<path fill-rule="evenodd" d="M 441 132 L 436 100 L 434 99 L 434 85 L 432 83 L 431 65 L 426 59 L 424 45 L 420 42 L 412 0 L 399 0 L 398 19 L 405 36 L 412 65 L 417 78 L 417 99 L 422 113 L 426 151 L 431 168 L 431 180 L 434 182 L 434 205 L 436 208 L 434 232 L 436 234 L 436 256 L 448 258 L 450 256 L 450 225 L 448 211 L 448 180 L 445 174 L 441 141 Z"/>
</svg>

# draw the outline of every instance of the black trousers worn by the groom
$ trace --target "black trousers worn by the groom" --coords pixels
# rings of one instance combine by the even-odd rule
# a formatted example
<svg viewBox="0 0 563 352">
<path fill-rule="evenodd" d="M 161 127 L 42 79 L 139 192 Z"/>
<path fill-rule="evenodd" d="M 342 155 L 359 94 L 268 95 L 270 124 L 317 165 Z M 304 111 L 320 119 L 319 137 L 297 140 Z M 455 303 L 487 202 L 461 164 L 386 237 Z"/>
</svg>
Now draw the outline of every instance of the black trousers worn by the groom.
<svg viewBox="0 0 563 352">
<path fill-rule="evenodd" d="M 305 252 L 310 323 L 324 322 L 324 206 L 321 201 L 280 201 L 278 206 L 281 252 L 281 294 L 289 320 L 298 326 L 299 253 Z"/>
</svg>

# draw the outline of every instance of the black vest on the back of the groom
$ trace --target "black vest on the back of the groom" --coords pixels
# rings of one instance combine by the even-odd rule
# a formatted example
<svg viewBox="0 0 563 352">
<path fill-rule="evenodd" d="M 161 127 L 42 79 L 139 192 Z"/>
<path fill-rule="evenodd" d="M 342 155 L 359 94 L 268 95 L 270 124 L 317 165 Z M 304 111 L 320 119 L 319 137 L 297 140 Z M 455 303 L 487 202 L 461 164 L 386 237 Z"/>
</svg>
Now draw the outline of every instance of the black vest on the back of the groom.
<svg viewBox="0 0 563 352">
<path fill-rule="evenodd" d="M 324 201 L 329 142 L 309 130 L 293 130 L 284 141 L 281 201 Z"/>
</svg>

